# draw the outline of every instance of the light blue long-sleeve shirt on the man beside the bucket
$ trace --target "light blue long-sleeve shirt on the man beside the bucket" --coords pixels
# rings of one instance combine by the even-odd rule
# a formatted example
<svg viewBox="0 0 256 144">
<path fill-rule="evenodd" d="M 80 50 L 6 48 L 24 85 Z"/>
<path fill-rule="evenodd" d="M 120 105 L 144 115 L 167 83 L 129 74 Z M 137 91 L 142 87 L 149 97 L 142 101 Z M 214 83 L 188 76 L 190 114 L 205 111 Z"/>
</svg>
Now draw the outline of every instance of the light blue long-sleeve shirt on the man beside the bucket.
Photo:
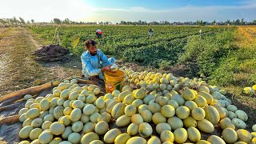
<svg viewBox="0 0 256 144">
<path fill-rule="evenodd" d="M 88 50 L 82 53 L 82 73 L 86 78 L 101 74 L 104 66 L 109 66 L 112 62 L 106 58 L 102 50 L 97 49 L 97 54 L 92 56 Z"/>
</svg>

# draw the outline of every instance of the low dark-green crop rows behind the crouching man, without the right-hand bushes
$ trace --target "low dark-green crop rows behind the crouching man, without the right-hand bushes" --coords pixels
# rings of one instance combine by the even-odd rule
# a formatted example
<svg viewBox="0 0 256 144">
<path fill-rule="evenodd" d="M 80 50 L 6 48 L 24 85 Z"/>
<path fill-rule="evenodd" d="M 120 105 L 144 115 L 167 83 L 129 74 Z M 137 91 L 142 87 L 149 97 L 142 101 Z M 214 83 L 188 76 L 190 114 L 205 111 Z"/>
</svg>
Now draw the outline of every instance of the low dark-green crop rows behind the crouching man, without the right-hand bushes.
<svg viewBox="0 0 256 144">
<path fill-rule="evenodd" d="M 58 27 L 61 45 L 69 48 L 78 57 L 84 50 L 83 42 L 95 38 L 95 30 L 103 31 L 103 38 L 96 39 L 98 48 L 105 54 L 121 58 L 126 62 L 135 62 L 141 66 L 153 66 L 167 69 L 178 61 L 184 52 L 187 39 L 191 35 L 216 33 L 222 28 L 199 26 L 60 26 Z M 154 36 L 149 38 L 148 30 L 154 29 Z M 42 38 L 54 37 L 54 26 L 30 27 Z M 78 45 L 74 46 L 80 38 Z"/>
</svg>

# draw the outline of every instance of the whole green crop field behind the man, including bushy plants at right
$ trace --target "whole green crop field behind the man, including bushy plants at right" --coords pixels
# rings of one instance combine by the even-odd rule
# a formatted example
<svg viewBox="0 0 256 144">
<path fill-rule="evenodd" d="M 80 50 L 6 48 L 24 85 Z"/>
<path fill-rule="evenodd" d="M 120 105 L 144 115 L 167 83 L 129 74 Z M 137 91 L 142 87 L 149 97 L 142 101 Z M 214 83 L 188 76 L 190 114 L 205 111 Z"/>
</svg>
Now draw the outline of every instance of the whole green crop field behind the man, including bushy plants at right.
<svg viewBox="0 0 256 144">
<path fill-rule="evenodd" d="M 238 49 L 234 45 L 234 27 L 60 26 L 61 45 L 79 58 L 84 42 L 88 38 L 95 39 L 98 28 L 103 31 L 103 38 L 96 39 L 98 48 L 126 62 L 163 70 L 177 63 L 186 65 L 190 68 L 186 76 L 205 75 L 210 84 L 218 86 L 256 83 L 256 50 Z M 150 28 L 154 29 L 151 38 L 148 36 Z M 54 37 L 54 26 L 32 26 L 30 29 L 47 41 Z"/>
</svg>

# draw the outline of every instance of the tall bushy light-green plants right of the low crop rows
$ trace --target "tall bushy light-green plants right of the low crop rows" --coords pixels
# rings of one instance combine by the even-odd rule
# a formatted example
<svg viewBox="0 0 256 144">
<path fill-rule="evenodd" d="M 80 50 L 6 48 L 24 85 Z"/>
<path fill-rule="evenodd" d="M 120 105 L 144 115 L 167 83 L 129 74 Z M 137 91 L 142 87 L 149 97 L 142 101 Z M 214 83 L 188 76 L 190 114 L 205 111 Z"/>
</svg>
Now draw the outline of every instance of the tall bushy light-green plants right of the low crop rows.
<svg viewBox="0 0 256 144">
<path fill-rule="evenodd" d="M 209 77 L 219 66 L 223 57 L 235 49 L 232 45 L 232 30 L 222 31 L 208 36 L 191 36 L 185 46 L 185 52 L 179 58 L 180 63 L 196 62 L 198 75 Z"/>
</svg>

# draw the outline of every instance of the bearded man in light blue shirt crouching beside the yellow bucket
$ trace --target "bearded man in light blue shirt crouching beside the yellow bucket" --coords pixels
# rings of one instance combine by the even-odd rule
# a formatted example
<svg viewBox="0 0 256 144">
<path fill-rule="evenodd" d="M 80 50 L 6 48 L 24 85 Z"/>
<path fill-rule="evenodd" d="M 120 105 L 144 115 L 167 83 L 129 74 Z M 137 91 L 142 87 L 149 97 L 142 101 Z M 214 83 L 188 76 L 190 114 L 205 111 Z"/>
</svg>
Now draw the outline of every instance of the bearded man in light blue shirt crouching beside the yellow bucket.
<svg viewBox="0 0 256 144">
<path fill-rule="evenodd" d="M 114 64 L 114 58 L 106 58 L 102 50 L 97 49 L 97 42 L 92 39 L 86 41 L 86 51 L 82 53 L 82 73 L 86 79 L 94 82 L 102 82 L 104 79 L 103 73 L 111 71 L 110 66 Z"/>
</svg>

